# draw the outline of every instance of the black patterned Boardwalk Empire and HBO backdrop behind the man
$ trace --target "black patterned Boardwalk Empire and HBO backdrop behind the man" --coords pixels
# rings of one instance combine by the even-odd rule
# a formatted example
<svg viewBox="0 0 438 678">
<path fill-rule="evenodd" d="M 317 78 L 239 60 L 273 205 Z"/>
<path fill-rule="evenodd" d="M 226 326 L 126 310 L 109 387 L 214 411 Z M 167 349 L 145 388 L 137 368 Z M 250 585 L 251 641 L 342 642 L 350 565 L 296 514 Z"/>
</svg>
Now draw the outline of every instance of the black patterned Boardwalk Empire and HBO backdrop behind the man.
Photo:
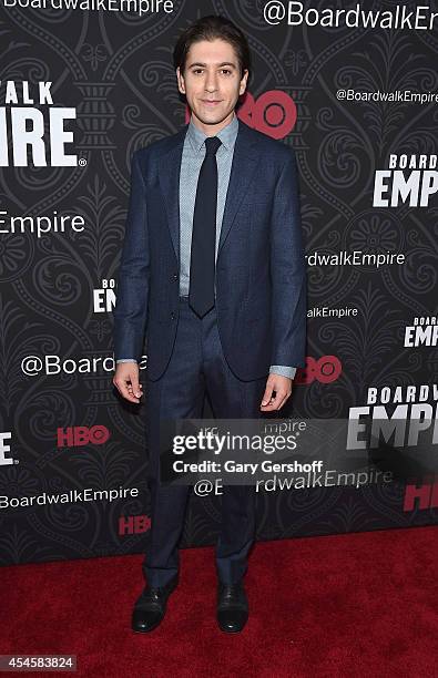
<svg viewBox="0 0 438 678">
<path fill-rule="evenodd" d="M 238 116 L 298 161 L 307 366 L 282 414 L 394 433 L 384 482 L 264 487 L 258 538 L 436 523 L 434 475 L 397 460 L 437 442 L 438 4 L 0 3 L 0 563 L 143 549 L 144 405 L 112 384 L 130 160 L 189 120 L 172 50 L 210 13 L 252 49 Z M 192 493 L 182 546 L 215 542 L 220 502 Z"/>
</svg>

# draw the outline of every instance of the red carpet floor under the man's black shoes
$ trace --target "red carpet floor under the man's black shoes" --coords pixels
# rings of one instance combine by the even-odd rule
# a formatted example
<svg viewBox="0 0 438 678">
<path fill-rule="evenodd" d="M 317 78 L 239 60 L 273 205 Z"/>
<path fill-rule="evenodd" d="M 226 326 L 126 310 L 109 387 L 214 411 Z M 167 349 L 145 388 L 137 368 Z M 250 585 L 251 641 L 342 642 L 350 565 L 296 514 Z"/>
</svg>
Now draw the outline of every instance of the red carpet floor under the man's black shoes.
<svg viewBox="0 0 438 678">
<path fill-rule="evenodd" d="M 130 629 L 141 555 L 3 567 L 0 654 L 75 654 L 67 675 L 105 678 L 438 676 L 435 527 L 256 544 L 235 636 L 216 628 L 213 555 L 181 552 L 180 587 L 144 636 Z"/>
</svg>

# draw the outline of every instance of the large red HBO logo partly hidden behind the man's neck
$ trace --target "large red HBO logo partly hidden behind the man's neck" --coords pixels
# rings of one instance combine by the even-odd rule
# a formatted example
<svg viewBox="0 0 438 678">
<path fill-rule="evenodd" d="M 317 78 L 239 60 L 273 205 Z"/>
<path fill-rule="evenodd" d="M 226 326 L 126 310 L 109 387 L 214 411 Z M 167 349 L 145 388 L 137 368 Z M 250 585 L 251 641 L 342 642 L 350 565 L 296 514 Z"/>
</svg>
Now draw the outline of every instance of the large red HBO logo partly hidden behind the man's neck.
<svg viewBox="0 0 438 678">
<path fill-rule="evenodd" d="M 269 90 L 254 99 L 249 92 L 243 95 L 237 117 L 263 134 L 284 138 L 295 127 L 297 111 L 294 100 L 282 90 Z M 185 122 L 190 121 L 190 107 L 185 109 Z"/>
</svg>

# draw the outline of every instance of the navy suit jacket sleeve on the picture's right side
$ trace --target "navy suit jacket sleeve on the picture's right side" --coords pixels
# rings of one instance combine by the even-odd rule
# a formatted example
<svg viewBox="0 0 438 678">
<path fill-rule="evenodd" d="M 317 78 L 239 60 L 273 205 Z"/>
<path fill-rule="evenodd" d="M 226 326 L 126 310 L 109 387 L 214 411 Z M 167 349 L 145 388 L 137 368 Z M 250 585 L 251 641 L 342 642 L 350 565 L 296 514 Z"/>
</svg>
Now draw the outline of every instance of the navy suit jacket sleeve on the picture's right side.
<svg viewBox="0 0 438 678">
<path fill-rule="evenodd" d="M 272 359 L 271 364 L 305 367 L 307 276 L 295 153 L 281 171 L 271 228 Z"/>
</svg>

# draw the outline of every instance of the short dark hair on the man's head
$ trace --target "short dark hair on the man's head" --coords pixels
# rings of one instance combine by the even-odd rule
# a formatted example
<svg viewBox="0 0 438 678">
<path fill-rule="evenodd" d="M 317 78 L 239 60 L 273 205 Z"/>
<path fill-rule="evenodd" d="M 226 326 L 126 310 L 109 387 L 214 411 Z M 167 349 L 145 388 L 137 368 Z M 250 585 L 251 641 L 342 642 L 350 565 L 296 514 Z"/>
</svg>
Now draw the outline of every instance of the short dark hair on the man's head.
<svg viewBox="0 0 438 678">
<path fill-rule="evenodd" d="M 202 17 L 181 33 L 173 50 L 175 70 L 180 66 L 180 71 L 184 74 L 189 50 L 194 42 L 200 42 L 201 40 L 211 41 L 216 38 L 230 42 L 234 48 L 241 69 L 241 80 L 245 69 L 248 70 L 249 75 L 251 53 L 245 34 L 230 19 L 220 14 Z"/>
</svg>

